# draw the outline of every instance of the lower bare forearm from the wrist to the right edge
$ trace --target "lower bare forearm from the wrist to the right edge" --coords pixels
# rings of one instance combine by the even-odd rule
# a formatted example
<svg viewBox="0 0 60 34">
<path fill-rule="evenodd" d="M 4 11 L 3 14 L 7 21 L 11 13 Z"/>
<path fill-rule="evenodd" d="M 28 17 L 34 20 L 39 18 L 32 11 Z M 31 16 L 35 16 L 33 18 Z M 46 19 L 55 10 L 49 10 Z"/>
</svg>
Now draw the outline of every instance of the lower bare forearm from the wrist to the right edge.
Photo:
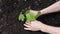
<svg viewBox="0 0 60 34">
<path fill-rule="evenodd" d="M 60 27 L 48 26 L 45 24 L 41 24 L 40 26 L 40 30 L 42 30 L 43 32 L 48 32 L 51 34 L 60 34 Z"/>
</svg>

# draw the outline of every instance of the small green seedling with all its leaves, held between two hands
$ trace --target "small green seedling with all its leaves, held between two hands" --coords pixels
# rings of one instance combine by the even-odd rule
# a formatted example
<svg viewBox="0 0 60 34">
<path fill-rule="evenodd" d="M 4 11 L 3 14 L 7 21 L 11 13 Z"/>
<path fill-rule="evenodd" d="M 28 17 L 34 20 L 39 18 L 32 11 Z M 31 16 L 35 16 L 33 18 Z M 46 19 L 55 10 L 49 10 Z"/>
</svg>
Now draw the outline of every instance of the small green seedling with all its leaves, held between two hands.
<svg viewBox="0 0 60 34">
<path fill-rule="evenodd" d="M 35 21 L 37 19 L 38 16 L 40 16 L 40 11 L 38 11 L 37 15 L 34 16 L 33 13 L 30 12 L 30 10 L 27 10 L 25 13 L 25 16 L 26 16 L 26 21 Z M 25 19 L 25 16 L 24 14 L 22 14 L 22 12 L 20 13 L 18 19 L 19 21 L 24 21 Z"/>
</svg>

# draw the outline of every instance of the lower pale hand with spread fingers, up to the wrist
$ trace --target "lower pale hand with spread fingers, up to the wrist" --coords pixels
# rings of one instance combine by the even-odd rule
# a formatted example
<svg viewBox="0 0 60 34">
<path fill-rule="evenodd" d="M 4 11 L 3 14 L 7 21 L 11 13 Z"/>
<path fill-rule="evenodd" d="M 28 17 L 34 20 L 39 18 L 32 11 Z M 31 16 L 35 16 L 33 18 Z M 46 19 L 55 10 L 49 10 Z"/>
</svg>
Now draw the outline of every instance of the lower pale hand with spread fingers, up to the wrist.
<svg viewBox="0 0 60 34">
<path fill-rule="evenodd" d="M 24 28 L 25 30 L 38 31 L 42 30 L 43 25 L 40 21 L 32 21 L 32 22 L 26 22 L 24 26 L 26 26 L 26 28 Z"/>
</svg>

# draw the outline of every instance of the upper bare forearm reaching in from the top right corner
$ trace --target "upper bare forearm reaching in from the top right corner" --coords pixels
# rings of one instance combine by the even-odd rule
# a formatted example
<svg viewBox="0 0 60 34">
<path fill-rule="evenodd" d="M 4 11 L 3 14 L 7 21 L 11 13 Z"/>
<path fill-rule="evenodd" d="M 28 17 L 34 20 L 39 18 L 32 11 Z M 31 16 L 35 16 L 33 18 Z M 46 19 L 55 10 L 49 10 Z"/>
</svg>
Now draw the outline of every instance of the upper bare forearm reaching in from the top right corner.
<svg viewBox="0 0 60 34">
<path fill-rule="evenodd" d="M 51 6 L 41 10 L 41 15 L 46 14 L 46 13 L 52 13 L 52 12 L 57 12 L 60 11 L 60 1 L 52 4 Z"/>
</svg>

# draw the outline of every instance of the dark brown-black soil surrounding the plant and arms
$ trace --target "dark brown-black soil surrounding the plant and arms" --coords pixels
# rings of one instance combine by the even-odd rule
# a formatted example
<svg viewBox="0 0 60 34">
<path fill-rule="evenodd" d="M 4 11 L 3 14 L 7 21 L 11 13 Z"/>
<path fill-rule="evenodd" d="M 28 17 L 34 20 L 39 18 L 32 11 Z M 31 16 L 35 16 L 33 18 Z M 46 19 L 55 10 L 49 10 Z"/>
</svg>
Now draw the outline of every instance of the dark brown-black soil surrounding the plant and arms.
<svg viewBox="0 0 60 34">
<path fill-rule="evenodd" d="M 55 0 L 1 0 L 0 34 L 48 34 L 41 31 L 24 30 L 24 22 L 18 21 L 19 13 L 30 6 L 32 10 L 41 10 L 55 3 Z M 42 15 L 37 20 L 55 27 L 60 27 L 60 12 Z"/>
</svg>

